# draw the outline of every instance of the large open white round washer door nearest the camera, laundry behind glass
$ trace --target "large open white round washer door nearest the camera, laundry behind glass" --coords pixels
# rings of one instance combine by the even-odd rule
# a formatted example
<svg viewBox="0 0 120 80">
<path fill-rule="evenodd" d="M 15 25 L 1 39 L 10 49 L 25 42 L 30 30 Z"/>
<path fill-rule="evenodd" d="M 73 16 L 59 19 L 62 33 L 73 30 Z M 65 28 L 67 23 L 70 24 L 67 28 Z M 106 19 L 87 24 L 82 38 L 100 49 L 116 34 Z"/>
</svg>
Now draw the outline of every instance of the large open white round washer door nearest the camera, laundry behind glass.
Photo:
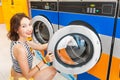
<svg viewBox="0 0 120 80">
<path fill-rule="evenodd" d="M 90 28 L 70 25 L 50 39 L 48 51 L 55 55 L 53 66 L 60 72 L 80 74 L 96 65 L 101 55 L 99 36 Z"/>
</svg>

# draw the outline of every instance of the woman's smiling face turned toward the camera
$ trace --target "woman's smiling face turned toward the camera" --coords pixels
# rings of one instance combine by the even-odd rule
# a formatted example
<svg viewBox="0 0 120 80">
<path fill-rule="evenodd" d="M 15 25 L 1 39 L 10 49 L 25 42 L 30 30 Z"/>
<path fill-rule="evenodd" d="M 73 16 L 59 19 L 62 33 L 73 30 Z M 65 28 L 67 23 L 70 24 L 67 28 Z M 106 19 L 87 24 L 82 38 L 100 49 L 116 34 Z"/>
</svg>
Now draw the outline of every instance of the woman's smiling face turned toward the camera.
<svg viewBox="0 0 120 80">
<path fill-rule="evenodd" d="M 20 27 L 18 28 L 18 35 L 20 38 L 28 38 L 32 35 L 32 25 L 30 23 L 30 20 L 26 17 L 22 18 L 20 22 Z"/>
</svg>

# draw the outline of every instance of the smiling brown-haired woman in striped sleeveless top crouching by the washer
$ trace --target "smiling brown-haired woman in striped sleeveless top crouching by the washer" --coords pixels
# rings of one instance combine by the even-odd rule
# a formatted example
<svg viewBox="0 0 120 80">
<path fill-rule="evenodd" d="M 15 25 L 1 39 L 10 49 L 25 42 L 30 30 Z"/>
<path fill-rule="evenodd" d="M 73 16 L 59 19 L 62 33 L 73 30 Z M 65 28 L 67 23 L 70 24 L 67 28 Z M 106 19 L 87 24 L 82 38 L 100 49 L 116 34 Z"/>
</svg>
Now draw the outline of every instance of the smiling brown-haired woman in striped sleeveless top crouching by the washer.
<svg viewBox="0 0 120 80">
<path fill-rule="evenodd" d="M 30 18 L 24 13 L 15 14 L 10 20 L 10 31 L 8 38 L 11 40 L 11 58 L 13 66 L 11 69 L 11 77 L 13 80 L 25 78 L 26 80 L 52 80 L 56 74 L 55 68 L 52 66 L 43 68 L 44 61 L 41 61 L 35 67 L 32 67 L 33 54 L 32 49 L 45 50 L 47 44 L 36 44 L 27 41 L 32 36 L 32 26 Z M 45 56 L 48 62 L 53 61 L 53 54 L 47 53 Z"/>
</svg>

